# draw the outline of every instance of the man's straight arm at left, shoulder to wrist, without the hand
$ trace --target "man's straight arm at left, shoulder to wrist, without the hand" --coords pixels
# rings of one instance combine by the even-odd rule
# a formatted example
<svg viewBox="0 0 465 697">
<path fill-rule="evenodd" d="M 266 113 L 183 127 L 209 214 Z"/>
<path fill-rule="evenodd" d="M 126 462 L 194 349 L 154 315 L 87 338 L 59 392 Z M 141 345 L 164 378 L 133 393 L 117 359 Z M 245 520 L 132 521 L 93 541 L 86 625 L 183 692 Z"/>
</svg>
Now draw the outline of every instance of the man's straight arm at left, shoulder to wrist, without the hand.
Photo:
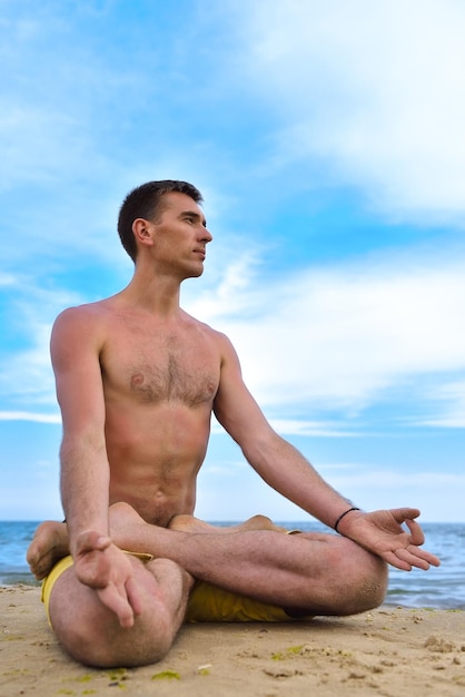
<svg viewBox="0 0 465 697">
<path fill-rule="evenodd" d="M 100 370 L 101 323 L 89 308 L 65 311 L 51 336 L 51 359 L 63 436 L 61 500 L 71 553 L 89 530 L 108 536 L 109 464 L 105 443 L 105 400 Z"/>
</svg>

